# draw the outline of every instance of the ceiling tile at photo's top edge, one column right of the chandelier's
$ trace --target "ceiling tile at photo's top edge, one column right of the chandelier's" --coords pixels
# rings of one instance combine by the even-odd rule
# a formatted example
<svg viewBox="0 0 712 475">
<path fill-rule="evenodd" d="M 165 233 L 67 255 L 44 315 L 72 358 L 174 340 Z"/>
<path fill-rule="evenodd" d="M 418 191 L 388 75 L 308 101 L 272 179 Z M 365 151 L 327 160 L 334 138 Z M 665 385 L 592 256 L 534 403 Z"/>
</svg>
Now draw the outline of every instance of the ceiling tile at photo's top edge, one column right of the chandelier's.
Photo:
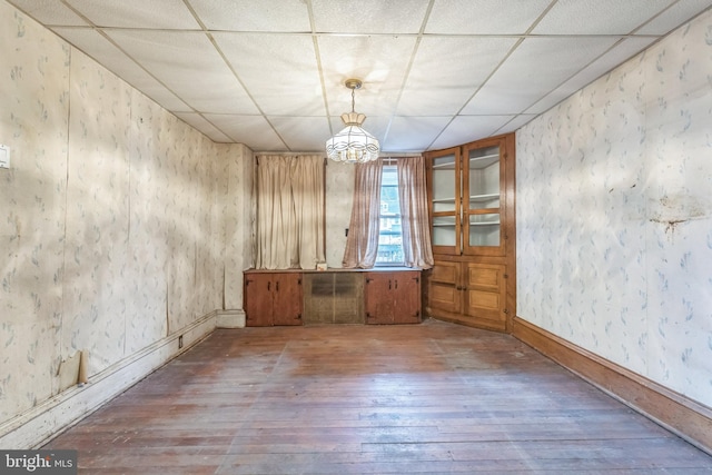
<svg viewBox="0 0 712 475">
<path fill-rule="evenodd" d="M 522 34 L 551 0 L 436 0 L 425 28 L 441 34 Z"/>
</svg>

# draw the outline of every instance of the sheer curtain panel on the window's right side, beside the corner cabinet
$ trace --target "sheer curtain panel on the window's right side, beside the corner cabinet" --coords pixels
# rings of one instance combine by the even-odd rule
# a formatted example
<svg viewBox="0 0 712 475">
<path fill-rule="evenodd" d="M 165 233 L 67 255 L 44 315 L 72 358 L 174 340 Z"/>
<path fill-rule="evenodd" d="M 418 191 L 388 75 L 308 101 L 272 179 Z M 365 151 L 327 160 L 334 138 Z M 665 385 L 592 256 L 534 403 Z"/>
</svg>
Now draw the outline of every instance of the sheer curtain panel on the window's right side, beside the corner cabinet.
<svg viewBox="0 0 712 475">
<path fill-rule="evenodd" d="M 403 231 L 403 255 L 407 267 L 433 267 L 433 248 L 428 224 L 428 202 L 423 157 L 396 160 L 398 200 Z"/>
</svg>

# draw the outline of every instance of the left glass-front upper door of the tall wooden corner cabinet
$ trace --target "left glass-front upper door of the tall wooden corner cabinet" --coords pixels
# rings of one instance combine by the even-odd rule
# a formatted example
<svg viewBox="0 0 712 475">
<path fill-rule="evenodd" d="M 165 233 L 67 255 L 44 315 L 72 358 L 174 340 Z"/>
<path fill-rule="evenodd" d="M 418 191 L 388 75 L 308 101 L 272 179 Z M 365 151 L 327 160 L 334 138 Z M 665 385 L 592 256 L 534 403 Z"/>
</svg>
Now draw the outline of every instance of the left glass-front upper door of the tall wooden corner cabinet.
<svg viewBox="0 0 712 475">
<path fill-rule="evenodd" d="M 463 239 L 459 147 L 434 152 L 429 168 L 433 253 L 461 254 Z"/>
</svg>

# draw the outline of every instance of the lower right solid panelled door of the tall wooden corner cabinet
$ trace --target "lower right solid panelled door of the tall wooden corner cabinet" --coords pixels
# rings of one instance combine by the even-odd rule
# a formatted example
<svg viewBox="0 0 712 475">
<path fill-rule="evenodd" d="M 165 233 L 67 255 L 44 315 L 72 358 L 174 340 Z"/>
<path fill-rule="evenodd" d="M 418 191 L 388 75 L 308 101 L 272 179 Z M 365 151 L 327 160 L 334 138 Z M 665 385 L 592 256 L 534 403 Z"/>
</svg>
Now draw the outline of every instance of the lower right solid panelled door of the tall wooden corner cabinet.
<svg viewBox="0 0 712 475">
<path fill-rule="evenodd" d="M 478 326 L 505 329 L 506 267 L 497 264 L 465 264 L 466 309 Z"/>
</svg>

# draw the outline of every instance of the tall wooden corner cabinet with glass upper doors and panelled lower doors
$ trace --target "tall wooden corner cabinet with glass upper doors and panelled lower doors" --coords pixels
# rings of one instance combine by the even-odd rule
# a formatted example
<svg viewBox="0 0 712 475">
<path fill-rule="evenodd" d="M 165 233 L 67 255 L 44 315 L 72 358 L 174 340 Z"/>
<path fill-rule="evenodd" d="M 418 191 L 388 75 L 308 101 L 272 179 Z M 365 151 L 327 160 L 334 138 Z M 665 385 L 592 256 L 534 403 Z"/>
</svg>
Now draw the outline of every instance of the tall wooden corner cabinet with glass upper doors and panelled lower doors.
<svg viewBox="0 0 712 475">
<path fill-rule="evenodd" d="M 435 266 L 426 311 L 506 331 L 516 307 L 514 135 L 426 154 Z"/>
</svg>

